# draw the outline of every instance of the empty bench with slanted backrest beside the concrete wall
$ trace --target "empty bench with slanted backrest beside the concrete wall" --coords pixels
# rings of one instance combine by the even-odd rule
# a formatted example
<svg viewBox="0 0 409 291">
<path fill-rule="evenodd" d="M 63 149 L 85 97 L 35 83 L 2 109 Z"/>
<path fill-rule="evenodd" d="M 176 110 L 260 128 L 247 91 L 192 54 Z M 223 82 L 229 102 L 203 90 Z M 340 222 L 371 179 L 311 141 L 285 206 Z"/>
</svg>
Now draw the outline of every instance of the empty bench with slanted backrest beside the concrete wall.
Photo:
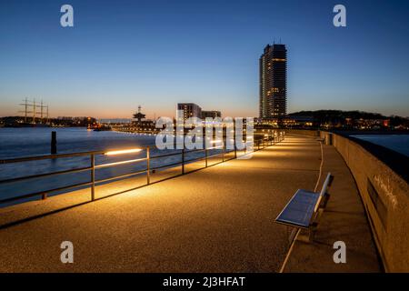
<svg viewBox="0 0 409 291">
<path fill-rule="evenodd" d="M 333 178 L 334 176 L 328 173 L 320 192 L 298 189 L 281 213 L 275 218 L 275 222 L 285 226 L 292 226 L 296 229 L 306 229 L 309 231 L 307 240 L 314 240 L 314 233 L 318 226 L 319 218 L 324 212 L 329 199 L 327 191 L 333 182 Z"/>
</svg>

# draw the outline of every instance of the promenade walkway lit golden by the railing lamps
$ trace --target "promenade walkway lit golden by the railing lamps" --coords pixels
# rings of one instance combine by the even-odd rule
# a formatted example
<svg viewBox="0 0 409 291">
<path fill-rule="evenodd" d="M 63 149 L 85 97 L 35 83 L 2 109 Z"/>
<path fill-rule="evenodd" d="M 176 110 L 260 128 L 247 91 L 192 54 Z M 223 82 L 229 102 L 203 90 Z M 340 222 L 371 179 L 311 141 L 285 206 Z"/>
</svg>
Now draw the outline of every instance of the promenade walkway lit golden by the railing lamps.
<svg viewBox="0 0 409 291">
<path fill-rule="evenodd" d="M 344 209 L 348 205 L 333 199 L 337 195 L 335 183 L 343 185 L 345 176 L 351 183 L 346 166 L 335 154 L 334 165 L 328 164 L 325 170 L 333 171 L 334 167 L 343 176 L 334 181 L 331 201 L 339 211 L 348 212 Z M 275 224 L 274 218 L 297 188 L 314 188 L 320 163 L 318 142 L 287 136 L 284 142 L 254 153 L 249 160 L 231 160 L 15 226 L 0 227 L 0 271 L 276 272 L 288 243 L 286 227 Z M 132 180 L 102 186 L 98 195 L 129 183 Z M 0 209 L 0 225 L 87 199 L 89 190 L 80 190 Z M 356 216 L 364 217 L 362 212 Z M 358 239 L 356 251 L 349 256 L 361 256 L 360 250 L 365 249 L 366 263 L 351 270 L 377 270 L 369 226 L 363 220 L 359 223 L 364 240 Z M 60 261 L 63 241 L 74 244 L 74 264 Z M 298 253 L 301 255 L 293 255 L 305 257 L 303 251 Z M 324 254 L 332 259 L 332 254 Z M 301 258 L 289 262 L 289 271 L 309 271 L 308 266 L 297 268 L 298 263 L 320 259 L 310 256 L 306 261 Z M 334 265 L 328 270 L 338 269 Z"/>
</svg>

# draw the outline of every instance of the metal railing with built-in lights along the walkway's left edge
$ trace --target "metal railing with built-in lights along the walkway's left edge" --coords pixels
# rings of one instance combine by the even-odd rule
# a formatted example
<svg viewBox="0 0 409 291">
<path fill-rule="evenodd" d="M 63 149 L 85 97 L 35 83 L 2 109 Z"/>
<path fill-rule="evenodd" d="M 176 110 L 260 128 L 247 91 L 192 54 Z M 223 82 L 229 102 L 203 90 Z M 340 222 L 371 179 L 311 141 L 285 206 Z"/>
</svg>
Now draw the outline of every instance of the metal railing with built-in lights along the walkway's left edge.
<svg viewBox="0 0 409 291">
<path fill-rule="evenodd" d="M 265 146 L 272 146 L 277 142 L 280 142 L 284 139 L 284 132 L 283 131 L 273 131 L 273 133 L 266 133 L 266 134 L 255 134 L 254 135 L 254 151 L 263 149 Z M 107 164 L 100 164 L 100 165 L 96 165 L 95 164 L 95 156 L 100 156 L 100 155 L 108 155 L 109 153 L 112 153 L 112 151 L 91 151 L 91 152 L 82 152 L 82 153 L 72 153 L 72 154 L 59 154 L 59 155 L 47 155 L 47 156 L 29 156 L 29 157 L 19 157 L 19 158 L 11 158 L 11 159 L 3 159 L 0 160 L 0 166 L 1 165 L 10 165 L 10 164 L 15 164 L 15 163 L 25 163 L 25 162 L 33 162 L 33 161 L 39 161 L 39 160 L 55 160 L 55 159 L 61 159 L 61 158 L 68 158 L 68 157 L 79 157 L 79 156 L 88 156 L 90 159 L 90 164 L 89 166 L 85 166 L 85 167 L 79 167 L 79 168 L 74 168 L 74 169 L 67 169 L 67 170 L 61 170 L 61 171 L 55 171 L 55 172 L 50 172 L 50 173 L 44 173 L 44 174 L 38 174 L 38 175 L 31 175 L 31 176 L 19 176 L 19 177 L 14 177 L 14 178 L 9 178 L 9 179 L 5 179 L 5 180 L 0 180 L 0 185 L 3 184 L 11 184 L 11 183 L 16 183 L 16 182 L 22 182 L 22 181 L 26 181 L 29 179 L 34 179 L 34 178 L 45 178 L 45 177 L 50 177 L 50 176 L 63 176 L 66 174 L 73 174 L 73 173 L 81 173 L 81 172 L 89 172 L 90 173 L 90 180 L 86 181 L 86 182 L 82 182 L 82 183 L 75 183 L 69 186 L 60 186 L 60 187 L 55 187 L 55 188 L 51 188 L 51 189 L 47 189 L 44 191 L 38 191 L 35 193 L 31 193 L 31 194 L 26 194 L 26 195 L 22 195 L 22 196 L 13 196 L 13 197 L 9 197 L 9 198 L 5 198 L 5 199 L 0 199 L 0 206 L 4 205 L 4 204 L 10 204 L 12 202 L 18 201 L 18 200 L 23 200 L 23 199 L 28 199 L 28 198 L 32 198 L 35 196 L 39 196 L 41 197 L 41 199 L 46 199 L 46 197 L 50 194 L 50 193 L 55 193 L 55 192 L 63 192 L 66 190 L 70 190 L 70 189 L 75 189 L 75 188 L 80 188 L 80 187 L 85 187 L 85 186 L 90 186 L 91 189 L 91 201 L 95 200 L 95 186 L 99 185 L 99 184 L 103 184 L 103 183 L 107 183 L 113 180 L 118 180 L 118 179 L 124 179 L 127 177 L 131 177 L 131 176 L 138 176 L 141 174 L 146 174 L 146 184 L 143 186 L 148 186 L 151 184 L 151 173 L 153 171 L 156 170 L 161 170 L 164 168 L 170 168 L 172 166 L 181 166 L 182 170 L 181 173 L 179 173 L 178 175 L 175 176 L 180 176 L 180 175 L 185 175 L 187 173 L 191 173 L 194 172 L 196 170 L 193 171 L 189 171 L 186 172 L 185 171 L 185 166 L 187 164 L 190 163 L 194 163 L 200 160 L 205 160 L 205 166 L 199 169 L 203 169 L 209 166 L 208 161 L 210 158 L 214 157 L 214 156 L 222 156 L 222 161 L 218 162 L 218 163 L 214 163 L 213 165 L 210 166 L 214 166 L 214 165 L 218 165 L 220 163 L 224 163 L 226 161 L 229 161 L 231 159 L 237 158 L 237 152 L 241 152 L 244 151 L 243 155 L 247 155 L 248 153 L 246 152 L 246 149 L 244 147 L 244 150 L 241 149 L 237 149 L 236 147 L 236 143 L 234 140 L 234 149 L 231 150 L 227 150 L 225 147 L 226 143 L 223 142 L 223 146 L 213 146 L 211 148 L 204 148 L 204 149 L 193 149 L 193 150 L 186 150 L 185 148 L 183 148 L 180 152 L 177 153 L 169 153 L 169 154 L 165 154 L 165 155 L 160 155 L 160 156 L 151 156 L 150 150 L 151 150 L 151 146 L 143 146 L 143 147 L 139 147 L 138 150 L 145 150 L 146 151 L 146 156 L 142 157 L 142 158 L 136 158 L 136 159 L 132 159 L 132 160 L 125 160 L 125 161 L 120 161 L 120 162 L 115 162 L 115 163 L 107 163 Z M 209 155 L 209 150 L 213 150 L 213 149 L 217 149 L 217 148 L 221 148 L 221 153 L 216 153 L 214 155 Z M 116 151 L 116 152 L 122 152 L 122 151 Z M 195 157 L 195 158 L 191 158 L 191 159 L 186 159 L 186 155 L 190 154 L 190 153 L 195 153 L 195 152 L 205 152 L 205 156 L 201 156 L 201 157 Z M 234 152 L 234 156 L 231 158 L 226 159 L 226 155 L 229 153 L 233 153 Z M 242 155 L 242 156 L 243 156 Z M 163 157 L 168 157 L 168 156 L 181 156 L 181 161 L 180 162 L 176 162 L 176 163 L 172 163 L 172 164 L 166 164 L 164 166 L 156 166 L 156 167 L 152 167 L 151 166 L 151 161 L 158 159 L 158 158 L 163 158 Z M 127 173 L 124 175 L 119 175 L 119 176 L 111 176 L 111 177 L 107 177 L 104 179 L 95 179 L 95 170 L 101 169 L 101 168 L 105 168 L 105 167 L 114 167 L 114 166 L 124 166 L 124 165 L 129 165 L 129 164 L 137 164 L 140 162 L 144 162 L 146 161 L 146 167 L 143 170 L 138 170 L 132 173 Z M 172 176 L 172 177 L 175 177 Z M 169 177 L 165 178 L 168 179 Z M 163 179 L 163 180 L 165 180 Z M 159 181 L 155 181 L 155 183 L 163 181 L 163 180 L 159 180 Z M 138 186 L 136 188 L 139 188 L 141 186 Z M 133 188 L 133 189 L 136 189 Z M 129 189 L 127 191 L 131 191 L 133 189 Z M 123 193 L 123 192 L 121 192 Z M 117 193 L 119 194 L 119 193 Z M 115 194 L 113 194 L 115 195 Z M 110 195 L 112 196 L 112 195 Z"/>
</svg>

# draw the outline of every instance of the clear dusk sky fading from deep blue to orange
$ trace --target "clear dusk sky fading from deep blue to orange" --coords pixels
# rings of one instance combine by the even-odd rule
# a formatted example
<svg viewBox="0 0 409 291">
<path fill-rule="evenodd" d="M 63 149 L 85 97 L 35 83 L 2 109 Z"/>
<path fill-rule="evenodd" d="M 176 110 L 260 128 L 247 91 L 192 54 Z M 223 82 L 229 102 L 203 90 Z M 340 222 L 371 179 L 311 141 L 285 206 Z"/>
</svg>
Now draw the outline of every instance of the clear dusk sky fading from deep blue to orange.
<svg viewBox="0 0 409 291">
<path fill-rule="evenodd" d="M 409 1 L 0 0 L 0 116 L 25 97 L 53 116 L 173 116 L 177 102 L 256 116 L 258 59 L 280 38 L 289 112 L 409 116 L 408 14 Z"/>
</svg>

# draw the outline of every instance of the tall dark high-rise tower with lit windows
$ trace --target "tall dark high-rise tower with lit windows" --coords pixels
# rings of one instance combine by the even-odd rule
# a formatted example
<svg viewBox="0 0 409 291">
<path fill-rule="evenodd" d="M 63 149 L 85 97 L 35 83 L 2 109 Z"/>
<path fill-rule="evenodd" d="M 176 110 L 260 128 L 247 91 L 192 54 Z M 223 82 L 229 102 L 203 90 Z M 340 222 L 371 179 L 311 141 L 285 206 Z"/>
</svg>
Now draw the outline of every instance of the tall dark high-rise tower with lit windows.
<svg viewBox="0 0 409 291">
<path fill-rule="evenodd" d="M 266 45 L 260 57 L 259 117 L 281 120 L 287 111 L 287 50 Z"/>
</svg>

